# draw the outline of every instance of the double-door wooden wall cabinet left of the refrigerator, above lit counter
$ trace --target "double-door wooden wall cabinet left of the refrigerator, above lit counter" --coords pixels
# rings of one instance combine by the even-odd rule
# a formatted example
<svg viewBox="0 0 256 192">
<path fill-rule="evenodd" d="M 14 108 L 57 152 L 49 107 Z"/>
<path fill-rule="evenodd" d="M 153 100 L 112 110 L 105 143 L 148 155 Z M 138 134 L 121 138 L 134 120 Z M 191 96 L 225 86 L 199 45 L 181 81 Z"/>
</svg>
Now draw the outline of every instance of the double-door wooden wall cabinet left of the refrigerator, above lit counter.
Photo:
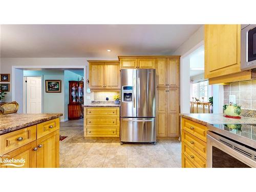
<svg viewBox="0 0 256 192">
<path fill-rule="evenodd" d="M 120 89 L 119 61 L 89 61 L 89 87 L 94 90 Z"/>
</svg>

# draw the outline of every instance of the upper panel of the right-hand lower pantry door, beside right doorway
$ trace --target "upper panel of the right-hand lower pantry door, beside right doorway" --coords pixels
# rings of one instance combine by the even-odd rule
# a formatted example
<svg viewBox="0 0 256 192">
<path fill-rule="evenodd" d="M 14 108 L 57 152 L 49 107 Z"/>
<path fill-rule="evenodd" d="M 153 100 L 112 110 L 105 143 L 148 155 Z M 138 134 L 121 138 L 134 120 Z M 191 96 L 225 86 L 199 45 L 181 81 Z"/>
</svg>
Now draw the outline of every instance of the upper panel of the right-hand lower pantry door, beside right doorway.
<svg viewBox="0 0 256 192">
<path fill-rule="evenodd" d="M 168 113 L 179 113 L 179 89 L 168 89 Z"/>
</svg>

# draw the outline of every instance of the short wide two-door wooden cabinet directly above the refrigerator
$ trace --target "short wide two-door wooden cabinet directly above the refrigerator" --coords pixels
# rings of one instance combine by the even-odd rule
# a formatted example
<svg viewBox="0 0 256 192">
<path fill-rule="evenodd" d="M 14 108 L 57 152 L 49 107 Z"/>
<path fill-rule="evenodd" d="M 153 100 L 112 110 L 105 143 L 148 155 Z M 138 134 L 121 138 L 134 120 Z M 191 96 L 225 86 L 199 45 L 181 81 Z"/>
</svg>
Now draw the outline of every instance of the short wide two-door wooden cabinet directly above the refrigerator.
<svg viewBox="0 0 256 192">
<path fill-rule="evenodd" d="M 152 57 L 120 56 L 121 69 L 155 69 L 156 59 Z"/>
</svg>

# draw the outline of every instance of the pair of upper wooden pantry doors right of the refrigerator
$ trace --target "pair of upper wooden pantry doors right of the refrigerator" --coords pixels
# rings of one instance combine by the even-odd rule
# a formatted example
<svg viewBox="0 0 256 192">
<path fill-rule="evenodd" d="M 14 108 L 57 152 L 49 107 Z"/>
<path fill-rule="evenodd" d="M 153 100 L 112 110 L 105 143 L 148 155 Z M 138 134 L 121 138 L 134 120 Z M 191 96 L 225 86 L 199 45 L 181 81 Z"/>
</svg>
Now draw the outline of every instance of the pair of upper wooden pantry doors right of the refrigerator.
<svg viewBox="0 0 256 192">
<path fill-rule="evenodd" d="M 156 59 L 157 88 L 180 87 L 180 58 Z"/>
</svg>

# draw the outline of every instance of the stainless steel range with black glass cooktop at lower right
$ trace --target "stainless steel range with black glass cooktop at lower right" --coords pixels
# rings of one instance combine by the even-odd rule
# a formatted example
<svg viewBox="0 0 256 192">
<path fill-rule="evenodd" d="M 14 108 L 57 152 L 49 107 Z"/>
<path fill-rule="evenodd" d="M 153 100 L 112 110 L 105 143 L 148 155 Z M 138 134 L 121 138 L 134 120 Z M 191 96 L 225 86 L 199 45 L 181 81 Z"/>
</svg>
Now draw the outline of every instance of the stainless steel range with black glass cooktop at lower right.
<svg viewBox="0 0 256 192">
<path fill-rule="evenodd" d="M 256 124 L 208 124 L 207 167 L 256 167 Z"/>
</svg>

